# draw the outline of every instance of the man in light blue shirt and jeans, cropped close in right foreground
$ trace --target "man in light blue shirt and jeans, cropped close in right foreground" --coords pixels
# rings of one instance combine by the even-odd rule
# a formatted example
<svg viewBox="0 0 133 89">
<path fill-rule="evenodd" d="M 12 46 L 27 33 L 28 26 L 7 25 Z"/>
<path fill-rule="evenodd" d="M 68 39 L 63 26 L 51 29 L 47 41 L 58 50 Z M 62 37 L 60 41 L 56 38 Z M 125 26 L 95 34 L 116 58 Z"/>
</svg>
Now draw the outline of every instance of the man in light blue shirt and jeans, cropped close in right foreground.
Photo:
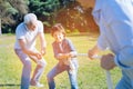
<svg viewBox="0 0 133 89">
<path fill-rule="evenodd" d="M 115 89 L 133 89 L 133 0 L 78 1 L 84 9 L 93 8 L 93 18 L 100 27 L 98 43 L 89 50 L 89 58 L 109 47 L 113 55 L 104 55 L 101 67 L 111 70 L 117 66 L 122 78 Z"/>
</svg>

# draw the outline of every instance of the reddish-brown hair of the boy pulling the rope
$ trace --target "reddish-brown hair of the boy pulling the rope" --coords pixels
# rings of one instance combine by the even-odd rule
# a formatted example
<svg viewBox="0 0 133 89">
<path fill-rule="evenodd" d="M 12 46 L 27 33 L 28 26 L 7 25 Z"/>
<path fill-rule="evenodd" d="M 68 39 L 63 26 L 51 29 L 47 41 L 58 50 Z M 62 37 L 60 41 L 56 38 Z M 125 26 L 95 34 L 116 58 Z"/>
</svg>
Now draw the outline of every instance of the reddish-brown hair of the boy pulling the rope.
<svg viewBox="0 0 133 89">
<path fill-rule="evenodd" d="M 65 37 L 65 30 L 64 30 L 64 28 L 62 27 L 61 23 L 55 23 L 55 24 L 51 28 L 51 36 L 53 37 L 53 33 L 57 32 L 57 31 L 62 32 L 62 33 L 64 34 L 64 37 Z"/>
</svg>

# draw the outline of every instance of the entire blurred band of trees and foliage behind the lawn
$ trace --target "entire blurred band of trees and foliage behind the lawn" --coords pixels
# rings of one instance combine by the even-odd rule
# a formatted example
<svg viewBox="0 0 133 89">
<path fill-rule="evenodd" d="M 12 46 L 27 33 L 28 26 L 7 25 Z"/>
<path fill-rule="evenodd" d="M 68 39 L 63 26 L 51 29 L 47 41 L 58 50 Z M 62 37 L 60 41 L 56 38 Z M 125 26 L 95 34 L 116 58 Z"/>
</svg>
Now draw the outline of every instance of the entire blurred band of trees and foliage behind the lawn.
<svg viewBox="0 0 133 89">
<path fill-rule="evenodd" d="M 33 12 L 44 24 L 44 32 L 60 22 L 66 32 L 99 32 L 92 9 L 83 10 L 75 0 L 0 0 L 0 34 L 14 33 L 23 16 Z"/>
</svg>

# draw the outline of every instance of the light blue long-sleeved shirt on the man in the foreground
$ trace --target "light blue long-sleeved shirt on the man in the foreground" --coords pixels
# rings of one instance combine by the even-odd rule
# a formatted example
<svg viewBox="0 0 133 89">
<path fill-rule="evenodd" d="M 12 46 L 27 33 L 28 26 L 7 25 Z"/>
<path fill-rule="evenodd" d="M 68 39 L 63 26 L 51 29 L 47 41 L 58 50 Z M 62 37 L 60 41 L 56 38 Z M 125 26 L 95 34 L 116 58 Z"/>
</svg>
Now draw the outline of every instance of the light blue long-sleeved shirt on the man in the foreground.
<svg viewBox="0 0 133 89">
<path fill-rule="evenodd" d="M 109 47 L 120 68 L 133 69 L 133 0 L 96 0 L 92 14 L 101 32 L 98 47 Z"/>
</svg>

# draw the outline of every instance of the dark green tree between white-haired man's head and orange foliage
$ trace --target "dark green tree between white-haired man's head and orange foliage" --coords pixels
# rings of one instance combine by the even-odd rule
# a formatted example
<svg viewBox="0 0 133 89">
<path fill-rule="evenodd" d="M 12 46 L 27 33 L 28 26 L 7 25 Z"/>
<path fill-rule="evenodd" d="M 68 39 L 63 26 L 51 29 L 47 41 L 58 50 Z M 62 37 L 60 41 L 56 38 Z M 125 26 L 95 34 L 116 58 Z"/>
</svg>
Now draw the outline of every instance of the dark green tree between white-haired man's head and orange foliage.
<svg viewBox="0 0 133 89">
<path fill-rule="evenodd" d="M 49 32 L 48 28 L 54 23 L 60 2 L 59 0 L 29 0 L 29 9 L 43 21 L 44 31 Z"/>
</svg>

